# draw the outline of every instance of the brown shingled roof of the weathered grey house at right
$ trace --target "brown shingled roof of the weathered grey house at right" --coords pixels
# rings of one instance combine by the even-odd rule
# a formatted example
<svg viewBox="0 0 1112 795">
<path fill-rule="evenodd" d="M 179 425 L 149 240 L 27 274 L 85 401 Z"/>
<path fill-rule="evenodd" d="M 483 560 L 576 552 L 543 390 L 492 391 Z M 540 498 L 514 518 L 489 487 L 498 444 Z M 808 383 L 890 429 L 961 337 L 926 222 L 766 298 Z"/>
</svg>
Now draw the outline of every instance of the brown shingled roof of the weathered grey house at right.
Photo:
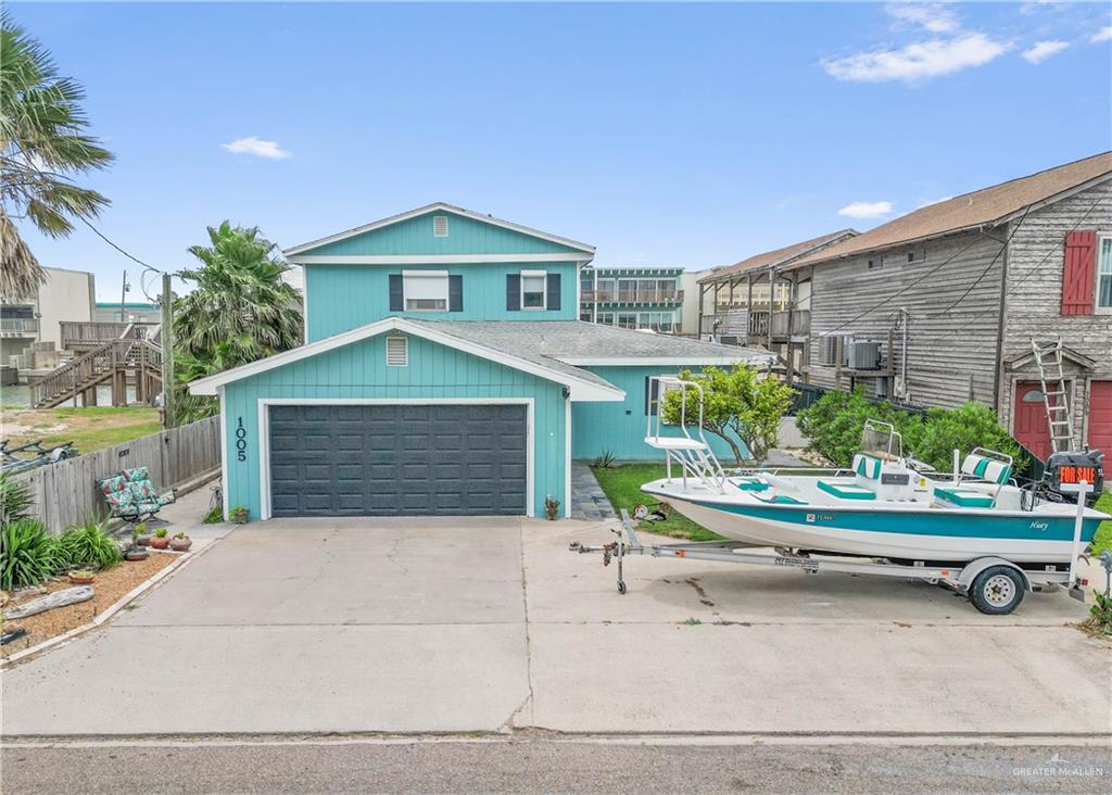
<svg viewBox="0 0 1112 795">
<path fill-rule="evenodd" d="M 793 262 L 791 267 L 840 259 L 977 227 L 995 226 L 1032 205 L 1053 201 L 1062 193 L 1110 177 L 1112 177 L 1112 151 L 921 207 L 855 238 L 804 257 Z"/>
</svg>

